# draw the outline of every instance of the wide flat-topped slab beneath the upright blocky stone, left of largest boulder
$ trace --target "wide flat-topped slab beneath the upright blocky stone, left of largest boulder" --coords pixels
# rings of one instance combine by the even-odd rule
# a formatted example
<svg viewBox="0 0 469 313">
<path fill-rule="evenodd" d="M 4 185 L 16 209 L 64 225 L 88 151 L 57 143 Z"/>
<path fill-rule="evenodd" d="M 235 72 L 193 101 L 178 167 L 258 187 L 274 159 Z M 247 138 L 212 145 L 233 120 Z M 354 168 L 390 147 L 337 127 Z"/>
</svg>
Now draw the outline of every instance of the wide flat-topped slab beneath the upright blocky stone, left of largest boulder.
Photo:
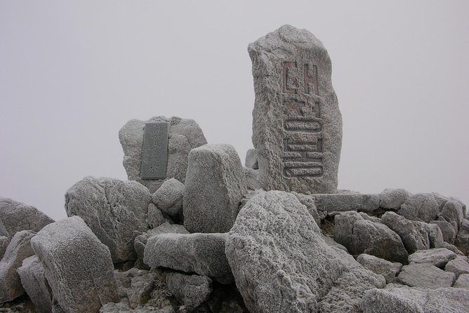
<svg viewBox="0 0 469 313">
<path fill-rule="evenodd" d="M 145 246 L 143 262 L 150 267 L 169 267 L 195 272 L 227 284 L 233 281 L 225 256 L 227 234 L 159 234 Z"/>
</svg>

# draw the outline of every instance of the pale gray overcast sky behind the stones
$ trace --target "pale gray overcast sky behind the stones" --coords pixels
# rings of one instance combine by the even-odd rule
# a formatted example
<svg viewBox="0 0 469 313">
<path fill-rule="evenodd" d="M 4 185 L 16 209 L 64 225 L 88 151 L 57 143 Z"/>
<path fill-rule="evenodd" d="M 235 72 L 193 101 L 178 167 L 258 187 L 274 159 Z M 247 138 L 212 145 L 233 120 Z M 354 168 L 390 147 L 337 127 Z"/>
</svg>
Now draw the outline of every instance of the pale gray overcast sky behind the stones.
<svg viewBox="0 0 469 313">
<path fill-rule="evenodd" d="M 65 218 L 86 175 L 126 179 L 129 119 L 195 119 L 242 161 L 247 45 L 281 25 L 329 51 L 339 187 L 469 204 L 469 1 L 0 1 L 0 195 Z"/>
</svg>

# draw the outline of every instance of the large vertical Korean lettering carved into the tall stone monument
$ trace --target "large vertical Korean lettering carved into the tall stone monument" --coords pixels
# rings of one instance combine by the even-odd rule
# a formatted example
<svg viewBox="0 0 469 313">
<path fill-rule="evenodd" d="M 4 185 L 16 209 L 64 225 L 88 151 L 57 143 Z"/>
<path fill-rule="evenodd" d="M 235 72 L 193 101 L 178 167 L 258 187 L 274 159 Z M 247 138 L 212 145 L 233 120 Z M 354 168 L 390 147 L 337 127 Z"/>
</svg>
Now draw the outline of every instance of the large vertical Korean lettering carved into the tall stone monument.
<svg viewBox="0 0 469 313">
<path fill-rule="evenodd" d="M 317 66 L 283 62 L 282 93 L 283 175 L 287 178 L 319 178 L 323 175 L 323 163 Z"/>
</svg>

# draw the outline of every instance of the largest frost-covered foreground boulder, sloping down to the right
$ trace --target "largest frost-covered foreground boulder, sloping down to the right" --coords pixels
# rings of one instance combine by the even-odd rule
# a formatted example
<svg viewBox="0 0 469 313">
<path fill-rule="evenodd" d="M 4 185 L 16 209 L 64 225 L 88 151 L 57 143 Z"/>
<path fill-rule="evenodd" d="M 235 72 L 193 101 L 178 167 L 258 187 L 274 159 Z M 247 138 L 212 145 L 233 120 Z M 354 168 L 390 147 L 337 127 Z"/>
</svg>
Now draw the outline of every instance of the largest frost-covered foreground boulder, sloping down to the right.
<svg viewBox="0 0 469 313">
<path fill-rule="evenodd" d="M 359 312 L 385 279 L 329 246 L 293 195 L 270 191 L 239 212 L 225 253 L 249 312 Z"/>
</svg>

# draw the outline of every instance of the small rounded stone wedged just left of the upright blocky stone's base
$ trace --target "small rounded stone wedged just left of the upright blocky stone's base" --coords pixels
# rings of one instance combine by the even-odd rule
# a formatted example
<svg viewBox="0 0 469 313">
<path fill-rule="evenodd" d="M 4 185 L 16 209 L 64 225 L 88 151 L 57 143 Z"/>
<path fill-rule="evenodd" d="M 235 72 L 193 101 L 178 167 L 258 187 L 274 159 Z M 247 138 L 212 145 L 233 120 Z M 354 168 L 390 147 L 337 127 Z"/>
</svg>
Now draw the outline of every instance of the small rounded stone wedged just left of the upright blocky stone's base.
<svg viewBox="0 0 469 313">
<path fill-rule="evenodd" d="M 170 178 L 152 194 L 152 200 L 161 211 L 177 219 L 183 213 L 183 195 L 184 184 Z"/>
</svg>

